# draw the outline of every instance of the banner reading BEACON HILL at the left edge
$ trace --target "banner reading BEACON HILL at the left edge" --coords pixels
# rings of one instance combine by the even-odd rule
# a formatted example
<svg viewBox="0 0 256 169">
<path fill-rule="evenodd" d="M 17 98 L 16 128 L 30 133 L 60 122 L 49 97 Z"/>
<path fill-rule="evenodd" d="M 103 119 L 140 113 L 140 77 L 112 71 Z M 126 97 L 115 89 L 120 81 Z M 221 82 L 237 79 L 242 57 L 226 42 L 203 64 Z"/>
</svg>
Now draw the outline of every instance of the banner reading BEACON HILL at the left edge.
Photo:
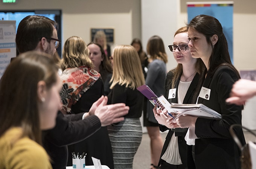
<svg viewBox="0 0 256 169">
<path fill-rule="evenodd" d="M 11 61 L 16 57 L 16 21 L 0 21 L 0 78 Z"/>
</svg>

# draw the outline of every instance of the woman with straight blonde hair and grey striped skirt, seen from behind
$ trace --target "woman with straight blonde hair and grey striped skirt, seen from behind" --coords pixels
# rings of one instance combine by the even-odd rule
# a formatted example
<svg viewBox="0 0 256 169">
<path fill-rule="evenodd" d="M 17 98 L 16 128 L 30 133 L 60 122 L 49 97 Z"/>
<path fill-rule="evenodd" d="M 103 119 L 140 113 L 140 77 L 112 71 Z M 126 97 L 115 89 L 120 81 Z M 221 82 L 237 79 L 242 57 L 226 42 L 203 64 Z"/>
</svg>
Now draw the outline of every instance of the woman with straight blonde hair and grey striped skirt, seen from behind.
<svg viewBox="0 0 256 169">
<path fill-rule="evenodd" d="M 143 95 L 136 89 L 144 84 L 137 51 L 131 45 L 119 45 L 113 50 L 113 76 L 108 104 L 125 103 L 130 107 L 124 121 L 108 126 L 115 169 L 133 168 L 133 158 L 142 139 Z"/>
</svg>

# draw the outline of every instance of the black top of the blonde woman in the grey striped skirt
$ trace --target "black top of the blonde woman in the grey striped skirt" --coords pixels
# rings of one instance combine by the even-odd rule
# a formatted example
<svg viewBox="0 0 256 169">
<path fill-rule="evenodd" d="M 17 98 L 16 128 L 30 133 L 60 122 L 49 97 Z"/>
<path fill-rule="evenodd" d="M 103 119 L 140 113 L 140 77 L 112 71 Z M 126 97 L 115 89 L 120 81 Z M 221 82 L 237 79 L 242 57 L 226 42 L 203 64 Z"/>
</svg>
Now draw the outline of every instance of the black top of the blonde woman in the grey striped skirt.
<svg viewBox="0 0 256 169">
<path fill-rule="evenodd" d="M 126 88 L 125 85 L 116 84 L 108 94 L 108 104 L 125 103 L 129 112 L 125 117 L 140 118 L 143 109 L 144 96 L 137 90 Z"/>
</svg>

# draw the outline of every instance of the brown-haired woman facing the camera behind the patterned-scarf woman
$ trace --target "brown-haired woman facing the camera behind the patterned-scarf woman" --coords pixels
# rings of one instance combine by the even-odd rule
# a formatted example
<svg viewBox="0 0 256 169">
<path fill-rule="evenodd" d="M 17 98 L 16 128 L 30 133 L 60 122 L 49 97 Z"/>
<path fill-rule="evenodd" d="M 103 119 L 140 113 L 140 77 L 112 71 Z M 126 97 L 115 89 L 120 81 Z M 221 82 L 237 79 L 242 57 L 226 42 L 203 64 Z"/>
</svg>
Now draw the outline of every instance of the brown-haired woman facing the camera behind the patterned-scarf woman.
<svg viewBox="0 0 256 169">
<path fill-rule="evenodd" d="M 104 83 L 104 95 L 108 95 L 113 72 L 112 65 L 101 45 L 91 42 L 87 47 L 90 50 L 90 59 L 93 62 L 94 70 L 101 74 Z"/>
</svg>

